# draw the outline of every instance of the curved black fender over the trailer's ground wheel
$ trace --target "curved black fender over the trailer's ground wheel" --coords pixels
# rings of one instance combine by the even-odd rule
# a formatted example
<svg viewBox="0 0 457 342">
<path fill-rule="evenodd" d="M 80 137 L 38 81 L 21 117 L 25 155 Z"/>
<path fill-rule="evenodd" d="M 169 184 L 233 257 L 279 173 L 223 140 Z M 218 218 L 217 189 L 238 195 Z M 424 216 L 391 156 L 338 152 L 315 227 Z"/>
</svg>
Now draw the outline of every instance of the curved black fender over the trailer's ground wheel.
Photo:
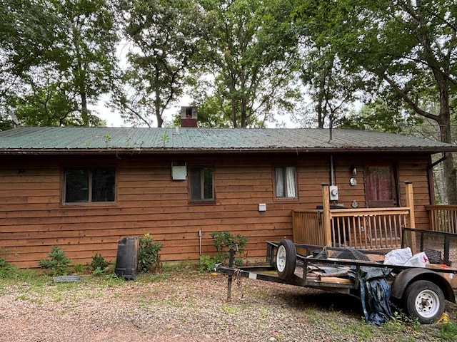
<svg viewBox="0 0 457 342">
<path fill-rule="evenodd" d="M 436 271 L 431 271 L 430 269 L 405 269 L 400 272 L 392 283 L 391 296 L 396 299 L 401 299 L 403 294 L 409 284 L 413 281 L 418 280 L 428 280 L 439 286 L 441 291 L 443 291 L 444 297 L 446 300 L 456 303 L 456 296 L 454 295 L 451 284 L 443 278 Z"/>
</svg>

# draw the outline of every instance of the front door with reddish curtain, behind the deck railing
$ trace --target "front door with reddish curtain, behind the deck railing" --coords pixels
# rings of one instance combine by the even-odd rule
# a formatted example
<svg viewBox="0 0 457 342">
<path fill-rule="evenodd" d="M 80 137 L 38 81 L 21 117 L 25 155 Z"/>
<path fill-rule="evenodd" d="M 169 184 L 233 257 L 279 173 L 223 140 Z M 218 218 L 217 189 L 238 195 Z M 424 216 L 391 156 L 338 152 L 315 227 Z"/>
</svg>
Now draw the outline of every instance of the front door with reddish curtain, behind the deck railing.
<svg viewBox="0 0 457 342">
<path fill-rule="evenodd" d="M 366 165 L 364 173 L 367 207 L 398 207 L 393 164 Z"/>
</svg>

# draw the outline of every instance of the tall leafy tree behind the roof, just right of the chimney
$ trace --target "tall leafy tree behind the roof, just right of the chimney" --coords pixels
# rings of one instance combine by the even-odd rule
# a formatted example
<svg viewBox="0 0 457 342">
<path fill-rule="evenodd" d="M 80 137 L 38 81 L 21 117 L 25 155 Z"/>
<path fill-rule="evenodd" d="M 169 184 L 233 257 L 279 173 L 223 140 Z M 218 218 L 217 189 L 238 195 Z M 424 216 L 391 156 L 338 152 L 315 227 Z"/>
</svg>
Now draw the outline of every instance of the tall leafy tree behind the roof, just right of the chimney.
<svg viewBox="0 0 457 342">
<path fill-rule="evenodd" d="M 203 77 L 213 83 L 207 95 L 219 101 L 221 115 L 244 128 L 290 109 L 299 95 L 292 83 L 298 66 L 291 7 L 262 0 L 206 0 L 201 6 L 215 20 Z"/>
</svg>

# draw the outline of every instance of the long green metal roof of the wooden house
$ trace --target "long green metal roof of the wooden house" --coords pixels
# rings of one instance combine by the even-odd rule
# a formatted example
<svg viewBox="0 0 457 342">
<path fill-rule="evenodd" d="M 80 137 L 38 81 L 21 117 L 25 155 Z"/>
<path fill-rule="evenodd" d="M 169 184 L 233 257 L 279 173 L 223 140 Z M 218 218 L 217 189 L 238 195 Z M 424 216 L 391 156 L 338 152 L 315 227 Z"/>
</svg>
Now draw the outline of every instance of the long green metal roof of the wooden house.
<svg viewBox="0 0 457 342">
<path fill-rule="evenodd" d="M 368 130 L 20 127 L 0 132 L 0 153 L 220 151 L 457 151 L 456 145 Z"/>
</svg>

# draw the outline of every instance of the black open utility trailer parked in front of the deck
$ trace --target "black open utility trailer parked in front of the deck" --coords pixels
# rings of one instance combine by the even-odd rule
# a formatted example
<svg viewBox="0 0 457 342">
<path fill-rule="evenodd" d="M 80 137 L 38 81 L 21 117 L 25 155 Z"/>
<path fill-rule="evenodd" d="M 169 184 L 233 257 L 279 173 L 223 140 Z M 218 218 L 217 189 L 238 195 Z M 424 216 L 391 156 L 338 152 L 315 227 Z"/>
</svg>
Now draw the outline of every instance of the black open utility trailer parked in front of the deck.
<svg viewBox="0 0 457 342">
<path fill-rule="evenodd" d="M 296 251 L 302 252 L 298 254 Z M 335 254 L 347 252 L 346 248 L 322 247 L 307 244 L 294 244 L 291 240 L 267 242 L 267 266 L 216 266 L 219 274 L 229 276 L 228 298 L 231 295 L 233 276 L 249 279 L 273 281 L 276 283 L 304 286 L 313 289 L 351 294 L 359 299 L 366 298 L 361 293 L 361 283 L 366 271 L 375 270 L 388 274 L 386 280 L 391 286 L 391 300 L 398 302 L 410 316 L 416 316 L 421 323 L 433 323 L 441 318 L 445 301 L 456 304 L 456 297 L 449 279 L 457 274 L 457 269 L 447 265 L 434 268 L 396 266 L 383 264 L 382 253 L 358 251 L 369 260 L 356 260 L 326 257 L 322 252 Z M 233 249 L 231 249 L 233 257 Z M 231 258 L 232 259 L 232 258 Z M 327 273 L 328 268 L 341 271 Z M 345 271 L 347 271 L 345 273 Z M 351 277 L 347 276 L 351 272 Z M 362 302 L 362 300 L 361 300 Z M 363 307 L 364 304 L 361 303 Z"/>
</svg>

